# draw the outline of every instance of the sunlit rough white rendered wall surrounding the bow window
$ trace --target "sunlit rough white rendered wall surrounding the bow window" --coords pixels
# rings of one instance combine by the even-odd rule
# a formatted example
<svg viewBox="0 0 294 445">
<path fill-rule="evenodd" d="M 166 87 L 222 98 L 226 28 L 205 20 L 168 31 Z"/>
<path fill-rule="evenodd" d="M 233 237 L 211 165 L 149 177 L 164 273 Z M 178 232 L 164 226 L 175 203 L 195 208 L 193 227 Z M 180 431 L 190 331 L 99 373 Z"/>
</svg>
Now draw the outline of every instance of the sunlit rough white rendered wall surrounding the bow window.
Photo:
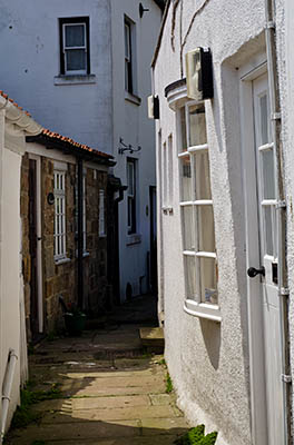
<svg viewBox="0 0 294 445">
<path fill-rule="evenodd" d="M 249 445 L 249 378 L 246 309 L 246 263 L 244 197 L 242 185 L 239 80 L 238 68 L 263 51 L 263 0 L 185 0 L 176 9 L 173 31 L 170 2 L 161 46 L 155 66 L 155 92 L 160 100 L 163 142 L 171 132 L 176 116 L 168 108 L 164 89 L 182 77 L 183 55 L 195 47 L 209 47 L 214 62 L 214 100 L 206 102 L 207 139 L 210 157 L 216 249 L 218 259 L 218 299 L 222 323 L 187 315 L 183 310 L 185 283 L 180 239 L 178 164 L 174 164 L 174 214 L 158 214 L 164 239 L 164 304 L 166 358 L 179 395 L 179 403 L 193 424 L 204 423 L 219 432 L 219 444 Z M 195 17 L 194 13 L 205 7 Z M 254 11 L 254 13 L 253 13 Z M 183 21 L 180 27 L 180 14 Z M 175 50 L 171 48 L 174 38 Z M 185 66 L 183 65 L 183 77 Z M 157 147 L 159 159 L 160 147 Z M 158 253 L 159 257 L 160 253 Z M 160 274 L 161 270 L 159 270 Z"/>
</svg>

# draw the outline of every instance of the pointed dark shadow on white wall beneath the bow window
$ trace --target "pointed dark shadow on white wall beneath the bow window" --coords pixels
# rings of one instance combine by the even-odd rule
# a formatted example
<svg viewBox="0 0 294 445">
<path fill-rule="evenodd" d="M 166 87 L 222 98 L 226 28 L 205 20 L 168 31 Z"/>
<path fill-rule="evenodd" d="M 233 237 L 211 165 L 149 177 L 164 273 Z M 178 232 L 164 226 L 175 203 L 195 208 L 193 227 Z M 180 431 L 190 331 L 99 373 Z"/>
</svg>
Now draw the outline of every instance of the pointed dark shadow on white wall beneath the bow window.
<svg viewBox="0 0 294 445">
<path fill-rule="evenodd" d="M 200 328 L 210 364 L 217 369 L 220 352 L 220 324 L 200 318 Z"/>
</svg>

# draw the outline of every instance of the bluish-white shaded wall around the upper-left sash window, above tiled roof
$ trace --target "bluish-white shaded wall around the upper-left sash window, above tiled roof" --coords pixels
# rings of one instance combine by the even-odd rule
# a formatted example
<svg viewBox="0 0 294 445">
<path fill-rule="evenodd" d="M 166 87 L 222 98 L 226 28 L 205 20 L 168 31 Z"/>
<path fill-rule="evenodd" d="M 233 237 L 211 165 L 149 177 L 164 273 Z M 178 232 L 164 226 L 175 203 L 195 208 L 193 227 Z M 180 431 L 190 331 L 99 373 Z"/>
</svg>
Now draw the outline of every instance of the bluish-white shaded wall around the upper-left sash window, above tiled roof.
<svg viewBox="0 0 294 445">
<path fill-rule="evenodd" d="M 1 89 L 46 128 L 112 151 L 108 0 L 0 0 Z M 59 18 L 90 17 L 90 85 L 55 85 Z M 13 57 L 12 57 L 13 55 Z"/>
</svg>

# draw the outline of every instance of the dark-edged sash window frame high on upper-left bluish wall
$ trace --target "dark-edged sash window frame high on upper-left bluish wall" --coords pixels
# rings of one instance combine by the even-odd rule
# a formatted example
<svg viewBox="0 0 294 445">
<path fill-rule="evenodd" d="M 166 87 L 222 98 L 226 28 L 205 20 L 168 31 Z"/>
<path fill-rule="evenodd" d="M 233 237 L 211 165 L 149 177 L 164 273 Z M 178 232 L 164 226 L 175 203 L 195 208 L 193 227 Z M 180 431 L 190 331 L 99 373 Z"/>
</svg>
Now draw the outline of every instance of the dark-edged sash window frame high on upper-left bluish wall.
<svg viewBox="0 0 294 445">
<path fill-rule="evenodd" d="M 85 27 L 85 46 L 66 47 L 65 30 L 67 26 Z M 87 76 L 90 73 L 90 32 L 89 17 L 72 17 L 59 19 L 59 41 L 60 41 L 60 75 L 62 76 Z M 86 53 L 86 67 L 82 70 L 68 70 L 66 51 L 69 49 L 84 49 Z"/>
</svg>

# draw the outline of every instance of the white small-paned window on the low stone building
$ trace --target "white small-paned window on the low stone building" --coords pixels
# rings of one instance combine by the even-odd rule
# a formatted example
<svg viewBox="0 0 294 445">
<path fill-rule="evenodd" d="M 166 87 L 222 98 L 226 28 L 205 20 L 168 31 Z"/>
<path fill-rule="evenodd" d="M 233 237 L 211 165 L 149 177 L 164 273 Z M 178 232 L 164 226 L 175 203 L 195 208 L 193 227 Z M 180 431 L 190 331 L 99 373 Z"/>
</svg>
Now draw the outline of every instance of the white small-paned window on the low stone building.
<svg viewBox="0 0 294 445">
<path fill-rule="evenodd" d="M 55 180 L 55 261 L 67 258 L 66 170 L 53 170 Z"/>
</svg>

